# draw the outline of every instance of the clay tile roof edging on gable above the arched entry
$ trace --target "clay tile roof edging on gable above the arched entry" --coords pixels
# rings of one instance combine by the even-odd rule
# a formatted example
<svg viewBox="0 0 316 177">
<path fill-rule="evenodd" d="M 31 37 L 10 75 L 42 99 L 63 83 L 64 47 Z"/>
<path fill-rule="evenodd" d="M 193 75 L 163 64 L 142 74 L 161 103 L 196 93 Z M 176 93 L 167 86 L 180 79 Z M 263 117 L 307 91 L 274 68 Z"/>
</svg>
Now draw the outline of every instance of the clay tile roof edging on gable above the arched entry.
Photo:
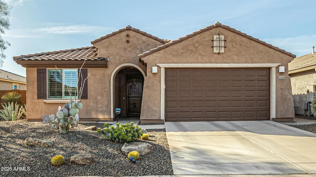
<svg viewBox="0 0 316 177">
<path fill-rule="evenodd" d="M 123 29 L 118 29 L 117 31 L 114 31 L 114 32 L 112 32 L 112 33 L 110 33 L 110 34 L 107 34 L 107 35 L 102 36 L 102 37 L 100 37 L 100 38 L 98 38 L 98 39 L 95 39 L 94 41 L 91 41 L 91 44 L 93 45 L 93 44 L 95 44 L 95 43 L 97 43 L 97 42 L 99 42 L 99 41 L 101 41 L 101 40 L 103 40 L 103 39 L 106 39 L 106 38 L 108 38 L 108 37 L 111 37 L 111 36 L 113 36 L 113 35 L 115 35 L 115 34 L 117 34 L 117 33 L 119 33 L 119 32 L 123 32 L 123 31 L 125 31 L 125 30 L 132 30 L 132 31 L 135 31 L 135 32 L 140 33 L 140 34 L 142 34 L 142 35 L 145 35 L 145 36 L 147 36 L 147 37 L 150 37 L 150 38 L 153 38 L 153 39 L 155 39 L 155 40 L 158 40 L 159 42 L 162 42 L 162 43 L 168 43 L 168 42 L 170 42 L 170 40 L 167 40 L 167 39 L 160 39 L 160 38 L 158 38 L 157 36 L 154 36 L 154 35 L 152 35 L 152 34 L 149 34 L 149 33 L 145 32 L 145 31 L 142 31 L 142 30 L 140 30 L 140 29 L 136 29 L 136 28 L 133 28 L 133 27 L 127 25 L 127 26 L 126 26 L 125 28 L 123 28 Z"/>
</svg>

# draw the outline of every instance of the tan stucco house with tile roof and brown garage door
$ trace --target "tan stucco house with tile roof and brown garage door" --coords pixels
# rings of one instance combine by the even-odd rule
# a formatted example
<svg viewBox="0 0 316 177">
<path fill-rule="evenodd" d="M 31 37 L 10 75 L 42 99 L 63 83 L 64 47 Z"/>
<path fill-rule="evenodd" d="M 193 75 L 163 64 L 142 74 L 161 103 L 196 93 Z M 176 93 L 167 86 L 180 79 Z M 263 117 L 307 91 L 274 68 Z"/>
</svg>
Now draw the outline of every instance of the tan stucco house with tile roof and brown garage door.
<svg viewBox="0 0 316 177">
<path fill-rule="evenodd" d="M 295 55 L 220 23 L 172 41 L 126 26 L 91 44 L 13 58 L 26 67 L 28 120 L 69 100 L 64 81 L 84 59 L 81 120 L 113 120 L 118 107 L 142 123 L 294 118 Z"/>
</svg>

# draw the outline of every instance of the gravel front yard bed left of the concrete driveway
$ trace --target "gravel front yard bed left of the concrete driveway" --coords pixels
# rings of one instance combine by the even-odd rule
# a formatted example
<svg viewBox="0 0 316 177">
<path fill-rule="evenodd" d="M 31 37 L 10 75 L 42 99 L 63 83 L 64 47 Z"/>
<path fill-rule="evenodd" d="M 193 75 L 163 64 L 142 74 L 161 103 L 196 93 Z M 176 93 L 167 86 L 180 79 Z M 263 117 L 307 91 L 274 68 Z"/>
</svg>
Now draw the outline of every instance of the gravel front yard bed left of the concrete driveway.
<svg viewBox="0 0 316 177">
<path fill-rule="evenodd" d="M 71 176 L 155 176 L 172 175 L 169 146 L 164 130 L 147 130 L 154 149 L 136 164 L 120 151 L 123 144 L 101 138 L 96 131 L 79 124 L 66 134 L 51 130 L 48 124 L 27 121 L 0 121 L 0 177 L 71 177 Z M 27 137 L 49 140 L 52 148 L 23 145 Z M 99 161 L 92 165 L 70 164 L 70 157 L 87 152 Z M 65 164 L 51 165 L 51 158 L 61 154 Z"/>
</svg>

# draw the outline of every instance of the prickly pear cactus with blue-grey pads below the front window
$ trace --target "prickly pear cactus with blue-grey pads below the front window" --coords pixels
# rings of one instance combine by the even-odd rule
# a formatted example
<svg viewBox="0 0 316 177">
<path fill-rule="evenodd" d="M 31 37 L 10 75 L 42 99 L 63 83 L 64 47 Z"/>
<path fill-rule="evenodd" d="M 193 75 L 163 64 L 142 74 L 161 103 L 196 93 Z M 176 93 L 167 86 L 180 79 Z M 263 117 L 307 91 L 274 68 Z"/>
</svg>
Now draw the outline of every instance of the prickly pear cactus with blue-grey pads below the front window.
<svg viewBox="0 0 316 177">
<path fill-rule="evenodd" d="M 60 133 L 67 133 L 72 127 L 78 125 L 79 109 L 82 108 L 82 103 L 70 100 L 62 108 L 59 106 L 55 115 L 44 115 L 43 122 L 58 129 Z"/>
</svg>

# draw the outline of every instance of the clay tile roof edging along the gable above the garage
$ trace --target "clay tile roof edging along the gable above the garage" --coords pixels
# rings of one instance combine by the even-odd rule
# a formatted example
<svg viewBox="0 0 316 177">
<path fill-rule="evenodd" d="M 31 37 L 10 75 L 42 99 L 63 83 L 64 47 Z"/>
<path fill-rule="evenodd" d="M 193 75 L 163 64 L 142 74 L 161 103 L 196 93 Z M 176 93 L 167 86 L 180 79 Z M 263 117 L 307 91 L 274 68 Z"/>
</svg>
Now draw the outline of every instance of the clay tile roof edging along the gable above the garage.
<svg viewBox="0 0 316 177">
<path fill-rule="evenodd" d="M 210 30 L 210 29 L 213 29 L 213 28 L 217 28 L 217 27 L 222 27 L 222 28 L 224 28 L 224 29 L 228 29 L 228 30 L 230 30 L 230 31 L 232 31 L 232 32 L 235 32 L 235 33 L 237 33 L 237 34 L 240 34 L 240 35 L 242 35 L 242 36 L 244 36 L 244 37 L 247 37 L 247 38 L 249 38 L 249 39 L 251 39 L 251 40 L 253 40 L 253 41 L 259 42 L 259 43 L 261 43 L 261 44 L 263 44 L 263 45 L 265 45 L 265 46 L 267 46 L 267 47 L 270 47 L 270 48 L 275 49 L 275 50 L 277 50 L 277 51 L 279 51 L 279 52 L 281 52 L 281 53 L 284 53 L 284 54 L 286 54 L 286 55 L 288 55 L 288 56 L 290 56 L 290 57 L 293 57 L 293 58 L 296 57 L 295 55 L 293 55 L 293 54 L 290 53 L 290 52 L 286 52 L 285 50 L 279 49 L 279 48 L 277 48 L 277 47 L 275 47 L 275 46 L 273 46 L 273 45 L 271 45 L 271 44 L 268 44 L 268 43 L 266 43 L 266 42 L 264 42 L 264 41 L 261 41 L 261 40 L 259 40 L 259 39 L 257 39 L 257 38 L 254 38 L 254 37 L 250 36 L 250 35 L 247 35 L 246 33 L 243 33 L 243 32 L 240 32 L 240 31 L 238 31 L 238 30 L 236 30 L 236 29 L 230 28 L 229 26 L 222 25 L 221 23 L 215 23 L 215 24 L 210 25 L 210 26 L 208 26 L 208 27 L 205 27 L 205 28 L 203 28 L 203 29 L 199 29 L 199 30 L 197 30 L 197 31 L 194 31 L 194 32 L 192 32 L 191 34 L 188 34 L 188 35 L 186 35 L 186 36 L 180 37 L 180 38 L 177 39 L 177 40 L 173 40 L 173 41 L 170 41 L 170 42 L 168 42 L 168 43 L 165 43 L 165 44 L 163 45 L 163 47 L 162 47 L 162 46 L 158 46 L 157 48 L 155 48 L 155 50 L 152 49 L 152 50 L 150 50 L 150 51 L 144 52 L 143 54 L 138 55 L 138 57 L 141 59 L 141 58 L 143 58 L 143 57 L 145 57 L 145 56 L 148 56 L 148 55 L 150 55 L 150 54 L 152 54 L 152 53 L 154 53 L 154 52 L 157 52 L 157 51 L 159 51 L 159 50 L 161 50 L 161 49 L 164 49 L 164 48 L 166 48 L 166 47 L 169 47 L 169 46 L 171 46 L 171 45 L 173 45 L 173 44 L 175 44 L 175 43 L 182 42 L 182 41 L 184 41 L 184 40 L 186 40 L 186 39 L 188 39 L 188 38 L 190 38 L 190 37 L 193 37 L 193 36 L 195 36 L 195 35 L 197 35 L 197 34 L 199 34 L 199 33 L 201 33 L 201 32 L 204 32 L 204 31 L 206 31 L 206 30 Z M 156 50 L 156 49 L 157 49 L 157 50 Z M 153 52 L 151 52 L 151 51 L 153 51 Z"/>
</svg>

